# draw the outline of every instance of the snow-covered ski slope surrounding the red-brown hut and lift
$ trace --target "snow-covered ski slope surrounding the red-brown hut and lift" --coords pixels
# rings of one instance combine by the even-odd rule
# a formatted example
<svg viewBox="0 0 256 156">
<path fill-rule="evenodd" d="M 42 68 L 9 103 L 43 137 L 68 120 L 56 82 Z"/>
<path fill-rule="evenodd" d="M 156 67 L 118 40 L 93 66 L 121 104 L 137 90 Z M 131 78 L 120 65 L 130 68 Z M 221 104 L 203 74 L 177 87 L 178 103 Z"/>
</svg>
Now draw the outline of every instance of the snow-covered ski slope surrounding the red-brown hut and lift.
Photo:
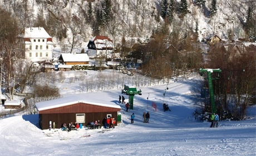
<svg viewBox="0 0 256 156">
<path fill-rule="evenodd" d="M 0 119 L 0 155 L 255 155 L 255 106 L 248 109 L 246 120 L 220 121 L 218 128 L 194 119 L 194 103 L 200 97 L 195 88 L 201 79 L 198 76 L 137 88 L 142 95 L 134 96 L 134 109 L 128 112 L 125 104 L 119 103 L 122 88 L 82 93 L 120 105 L 122 122 L 114 129 L 41 130 L 38 114 L 8 115 Z M 61 90 L 63 95 L 70 95 L 73 89 L 69 88 L 76 85 L 67 83 L 62 84 L 66 86 Z M 163 103 L 171 111 L 164 112 Z M 144 112 L 150 113 L 149 123 L 142 122 Z M 132 113 L 134 124 L 130 122 Z"/>
</svg>

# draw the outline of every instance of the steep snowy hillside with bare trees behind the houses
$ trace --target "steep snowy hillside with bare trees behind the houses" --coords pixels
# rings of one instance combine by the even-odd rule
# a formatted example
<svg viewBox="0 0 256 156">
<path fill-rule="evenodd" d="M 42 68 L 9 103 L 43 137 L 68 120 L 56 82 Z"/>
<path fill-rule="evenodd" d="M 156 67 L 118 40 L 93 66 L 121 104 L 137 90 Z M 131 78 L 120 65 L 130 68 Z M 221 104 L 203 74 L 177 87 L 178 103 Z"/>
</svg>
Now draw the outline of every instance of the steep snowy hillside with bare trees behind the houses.
<svg viewBox="0 0 256 156">
<path fill-rule="evenodd" d="M 115 46 L 121 44 L 122 37 L 126 40 L 148 39 L 152 32 L 164 29 L 161 2 L 159 0 L 15 0 L 9 3 L 3 1 L 0 6 L 13 13 L 19 29 L 44 27 L 52 37 L 56 38 L 55 44 L 62 47 L 74 46 L 76 49 L 86 47 L 85 42 L 96 34 L 109 36 Z M 216 1 L 213 15 L 210 14 L 212 1 L 205 1 L 204 5 L 201 5 L 196 4 L 198 1 L 189 0 L 186 1 L 188 10 L 185 16 L 181 16 L 179 11 L 181 1 L 173 2 L 175 10 L 169 25 L 169 33 L 178 31 L 181 37 L 190 36 L 195 32 L 197 23 L 199 41 L 208 39 L 214 34 L 221 39 L 227 39 L 231 34 L 233 39 L 248 37 L 244 31 L 244 24 L 249 6 L 255 14 L 254 1 Z M 110 8 L 109 16 L 102 15 L 99 19 L 99 12 L 104 14 L 109 9 L 106 7 Z M 106 21 L 106 18 L 110 21 Z M 99 23 L 99 20 L 103 22 Z M 249 36 L 253 35 L 249 34 Z"/>
</svg>

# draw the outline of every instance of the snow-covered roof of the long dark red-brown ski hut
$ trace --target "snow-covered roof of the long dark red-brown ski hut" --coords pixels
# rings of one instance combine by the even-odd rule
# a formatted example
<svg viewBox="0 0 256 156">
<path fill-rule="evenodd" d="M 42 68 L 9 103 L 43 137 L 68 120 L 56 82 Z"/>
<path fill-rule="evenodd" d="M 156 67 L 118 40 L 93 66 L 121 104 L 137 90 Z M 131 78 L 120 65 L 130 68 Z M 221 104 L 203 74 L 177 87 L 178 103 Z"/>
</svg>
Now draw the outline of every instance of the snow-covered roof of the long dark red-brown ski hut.
<svg viewBox="0 0 256 156">
<path fill-rule="evenodd" d="M 90 96 L 88 96 L 90 95 Z M 64 97 L 60 99 L 48 100 L 45 102 L 36 103 L 38 111 L 53 109 L 58 107 L 64 107 L 66 105 L 72 105 L 76 103 L 87 103 L 92 105 L 100 105 L 103 107 L 111 107 L 121 109 L 120 105 L 111 102 L 110 100 L 105 100 L 104 98 L 99 98 L 98 96 L 91 96 L 91 94 L 74 94 L 69 97 Z"/>
</svg>

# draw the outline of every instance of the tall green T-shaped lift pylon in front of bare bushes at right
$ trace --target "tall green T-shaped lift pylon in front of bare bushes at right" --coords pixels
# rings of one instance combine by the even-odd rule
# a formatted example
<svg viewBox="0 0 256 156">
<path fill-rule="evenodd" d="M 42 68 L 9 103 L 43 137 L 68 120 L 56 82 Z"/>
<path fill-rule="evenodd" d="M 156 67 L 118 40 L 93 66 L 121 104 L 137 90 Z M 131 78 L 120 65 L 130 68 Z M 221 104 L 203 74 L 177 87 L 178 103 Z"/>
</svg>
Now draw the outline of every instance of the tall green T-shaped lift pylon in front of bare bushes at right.
<svg viewBox="0 0 256 156">
<path fill-rule="evenodd" d="M 209 85 L 209 94 L 210 94 L 210 104 L 211 104 L 211 113 L 216 113 L 216 105 L 214 100 L 214 92 L 213 92 L 213 78 L 211 78 L 211 73 L 213 72 L 221 72 L 221 69 L 199 69 L 200 76 L 203 76 L 203 72 L 208 74 L 208 85 Z M 215 79 L 215 78 L 214 78 Z"/>
</svg>

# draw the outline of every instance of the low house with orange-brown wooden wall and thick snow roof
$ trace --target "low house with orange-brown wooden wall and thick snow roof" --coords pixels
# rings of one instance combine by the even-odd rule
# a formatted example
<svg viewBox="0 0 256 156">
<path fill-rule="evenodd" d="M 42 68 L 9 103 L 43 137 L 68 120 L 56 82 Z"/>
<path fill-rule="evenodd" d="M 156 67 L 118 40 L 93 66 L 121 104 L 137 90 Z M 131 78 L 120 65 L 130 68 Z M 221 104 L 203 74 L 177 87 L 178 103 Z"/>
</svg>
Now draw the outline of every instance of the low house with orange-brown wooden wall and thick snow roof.
<svg viewBox="0 0 256 156">
<path fill-rule="evenodd" d="M 62 53 L 58 61 L 67 65 L 89 64 L 89 58 L 86 53 Z"/>
</svg>

